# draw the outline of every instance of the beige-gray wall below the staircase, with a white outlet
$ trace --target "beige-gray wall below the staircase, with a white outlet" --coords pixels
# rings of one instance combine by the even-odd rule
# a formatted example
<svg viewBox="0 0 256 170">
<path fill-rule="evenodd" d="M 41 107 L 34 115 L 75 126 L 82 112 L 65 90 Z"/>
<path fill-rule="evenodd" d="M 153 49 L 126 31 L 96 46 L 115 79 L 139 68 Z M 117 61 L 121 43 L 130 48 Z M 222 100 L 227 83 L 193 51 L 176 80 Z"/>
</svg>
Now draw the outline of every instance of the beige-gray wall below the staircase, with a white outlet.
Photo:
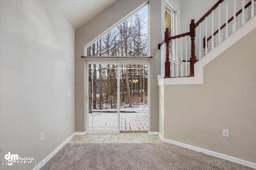
<svg viewBox="0 0 256 170">
<path fill-rule="evenodd" d="M 256 163 L 255 37 L 256 29 L 207 64 L 204 84 L 160 87 L 164 138 Z"/>
</svg>

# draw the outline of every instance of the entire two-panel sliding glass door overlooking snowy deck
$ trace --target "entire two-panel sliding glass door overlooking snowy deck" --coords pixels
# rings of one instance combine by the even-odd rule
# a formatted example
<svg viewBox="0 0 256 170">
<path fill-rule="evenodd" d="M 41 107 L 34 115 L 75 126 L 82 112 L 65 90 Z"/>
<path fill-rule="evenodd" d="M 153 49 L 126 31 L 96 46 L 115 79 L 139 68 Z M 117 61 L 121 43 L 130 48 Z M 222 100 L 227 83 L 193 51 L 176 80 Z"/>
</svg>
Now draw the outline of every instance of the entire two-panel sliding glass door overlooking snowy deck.
<svg viewBox="0 0 256 170">
<path fill-rule="evenodd" d="M 88 133 L 148 131 L 148 63 L 87 63 Z"/>
</svg>

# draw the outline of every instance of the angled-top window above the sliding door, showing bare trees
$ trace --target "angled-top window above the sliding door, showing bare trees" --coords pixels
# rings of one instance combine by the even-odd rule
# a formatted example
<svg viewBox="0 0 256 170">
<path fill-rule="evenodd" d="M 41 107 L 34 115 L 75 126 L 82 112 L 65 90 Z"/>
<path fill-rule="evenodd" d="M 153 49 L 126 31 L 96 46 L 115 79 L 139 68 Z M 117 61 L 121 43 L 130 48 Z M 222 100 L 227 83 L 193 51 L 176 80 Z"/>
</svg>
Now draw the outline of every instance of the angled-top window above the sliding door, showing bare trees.
<svg viewBox="0 0 256 170">
<path fill-rule="evenodd" d="M 148 5 L 87 47 L 87 56 L 148 56 Z"/>
</svg>

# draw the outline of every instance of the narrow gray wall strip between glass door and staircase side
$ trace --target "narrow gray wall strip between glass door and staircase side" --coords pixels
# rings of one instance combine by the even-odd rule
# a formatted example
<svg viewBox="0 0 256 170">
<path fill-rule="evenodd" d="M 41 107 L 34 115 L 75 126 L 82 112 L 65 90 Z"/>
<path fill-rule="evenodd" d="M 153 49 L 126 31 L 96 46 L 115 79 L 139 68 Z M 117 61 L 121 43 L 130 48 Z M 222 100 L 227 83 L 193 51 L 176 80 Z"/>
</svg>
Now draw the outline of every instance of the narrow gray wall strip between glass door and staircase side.
<svg viewBox="0 0 256 170">
<path fill-rule="evenodd" d="M 158 43 L 162 42 L 161 18 L 164 13 L 164 1 L 150 0 L 150 131 L 158 131 L 158 86 L 157 75 L 160 74 L 160 50 Z"/>
</svg>

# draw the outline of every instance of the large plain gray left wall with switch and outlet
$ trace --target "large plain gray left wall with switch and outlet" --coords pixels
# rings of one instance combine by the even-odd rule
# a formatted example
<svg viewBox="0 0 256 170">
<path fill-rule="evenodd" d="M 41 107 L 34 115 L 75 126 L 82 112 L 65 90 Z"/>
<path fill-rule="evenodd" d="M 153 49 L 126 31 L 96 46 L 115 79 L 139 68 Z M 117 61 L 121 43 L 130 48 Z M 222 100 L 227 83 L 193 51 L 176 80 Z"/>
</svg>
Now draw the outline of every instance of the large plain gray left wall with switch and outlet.
<svg viewBox="0 0 256 170">
<path fill-rule="evenodd" d="M 50 1 L 0 6 L 0 160 L 8 152 L 43 160 L 75 130 L 75 31 Z"/>
</svg>

